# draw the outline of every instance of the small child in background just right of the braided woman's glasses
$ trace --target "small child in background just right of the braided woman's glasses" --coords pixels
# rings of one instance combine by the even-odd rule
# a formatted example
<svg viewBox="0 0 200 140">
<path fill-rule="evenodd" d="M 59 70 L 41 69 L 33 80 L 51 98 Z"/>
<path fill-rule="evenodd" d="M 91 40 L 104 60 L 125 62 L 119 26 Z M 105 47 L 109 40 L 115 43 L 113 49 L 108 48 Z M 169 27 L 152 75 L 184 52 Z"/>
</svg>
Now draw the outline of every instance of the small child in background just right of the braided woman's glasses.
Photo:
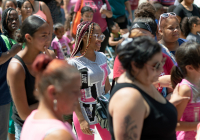
<svg viewBox="0 0 200 140">
<path fill-rule="evenodd" d="M 124 38 L 121 37 L 120 27 L 117 23 L 115 23 L 111 28 L 111 33 L 108 43 L 113 48 L 113 50 L 115 50 L 116 47 L 122 43 L 123 40 Z"/>
</svg>

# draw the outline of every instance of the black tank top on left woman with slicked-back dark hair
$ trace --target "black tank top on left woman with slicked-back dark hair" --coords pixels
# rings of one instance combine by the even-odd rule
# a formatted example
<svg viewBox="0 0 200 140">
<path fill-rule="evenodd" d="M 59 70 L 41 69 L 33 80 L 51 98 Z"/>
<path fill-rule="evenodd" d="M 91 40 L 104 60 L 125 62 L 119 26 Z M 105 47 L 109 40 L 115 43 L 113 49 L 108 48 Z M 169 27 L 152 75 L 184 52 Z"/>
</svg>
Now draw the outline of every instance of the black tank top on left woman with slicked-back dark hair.
<svg viewBox="0 0 200 140">
<path fill-rule="evenodd" d="M 33 77 L 29 71 L 28 68 L 26 67 L 24 61 L 22 60 L 21 57 L 19 57 L 18 55 L 14 56 L 15 59 L 19 60 L 20 63 L 22 64 L 22 66 L 24 67 L 25 70 L 25 89 L 26 89 L 26 96 L 27 96 L 27 101 L 28 101 L 28 105 L 33 105 L 35 103 L 38 103 L 38 100 L 36 100 L 35 96 L 34 96 L 34 89 L 35 89 L 35 77 Z M 17 109 L 15 107 L 15 105 L 13 105 L 13 114 L 12 114 L 12 119 L 18 123 L 20 126 L 23 126 L 24 121 L 19 117 L 19 114 L 17 112 Z"/>
</svg>

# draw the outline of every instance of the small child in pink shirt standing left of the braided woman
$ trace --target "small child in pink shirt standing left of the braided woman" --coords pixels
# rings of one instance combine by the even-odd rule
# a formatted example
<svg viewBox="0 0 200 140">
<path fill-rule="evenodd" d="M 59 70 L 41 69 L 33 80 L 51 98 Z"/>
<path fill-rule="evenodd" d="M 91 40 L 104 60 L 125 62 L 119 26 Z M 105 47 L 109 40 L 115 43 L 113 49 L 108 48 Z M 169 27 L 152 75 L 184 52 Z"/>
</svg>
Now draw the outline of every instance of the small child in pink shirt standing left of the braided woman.
<svg viewBox="0 0 200 140">
<path fill-rule="evenodd" d="M 54 25 L 54 34 L 56 37 L 53 39 L 51 43 L 51 47 L 54 49 L 56 56 L 59 59 L 65 59 L 70 56 L 70 52 L 72 50 L 72 43 L 64 36 L 64 25 L 61 23 L 57 23 Z"/>
</svg>

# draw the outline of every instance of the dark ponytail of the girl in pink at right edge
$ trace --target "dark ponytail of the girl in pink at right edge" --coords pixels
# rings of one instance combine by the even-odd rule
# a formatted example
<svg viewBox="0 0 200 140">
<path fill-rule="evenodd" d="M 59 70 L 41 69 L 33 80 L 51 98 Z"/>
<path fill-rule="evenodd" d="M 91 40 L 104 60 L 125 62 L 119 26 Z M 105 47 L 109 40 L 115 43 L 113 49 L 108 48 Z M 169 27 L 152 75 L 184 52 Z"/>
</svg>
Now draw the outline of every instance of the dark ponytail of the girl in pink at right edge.
<svg viewBox="0 0 200 140">
<path fill-rule="evenodd" d="M 172 87 L 175 88 L 178 83 L 184 78 L 180 68 L 178 66 L 173 66 L 171 70 L 171 83 Z"/>
</svg>

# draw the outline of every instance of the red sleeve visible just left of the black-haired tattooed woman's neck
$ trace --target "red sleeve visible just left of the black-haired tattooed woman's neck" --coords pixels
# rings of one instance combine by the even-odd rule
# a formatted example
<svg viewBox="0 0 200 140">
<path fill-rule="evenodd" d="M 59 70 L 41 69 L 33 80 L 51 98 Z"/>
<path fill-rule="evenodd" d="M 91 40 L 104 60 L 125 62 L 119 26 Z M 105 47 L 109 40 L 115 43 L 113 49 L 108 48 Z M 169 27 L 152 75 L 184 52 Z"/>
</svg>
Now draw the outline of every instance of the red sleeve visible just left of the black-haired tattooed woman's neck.
<svg viewBox="0 0 200 140">
<path fill-rule="evenodd" d="M 122 67 L 121 62 L 118 59 L 118 56 L 115 58 L 114 67 L 113 67 L 113 79 L 120 77 L 125 70 Z"/>
</svg>

